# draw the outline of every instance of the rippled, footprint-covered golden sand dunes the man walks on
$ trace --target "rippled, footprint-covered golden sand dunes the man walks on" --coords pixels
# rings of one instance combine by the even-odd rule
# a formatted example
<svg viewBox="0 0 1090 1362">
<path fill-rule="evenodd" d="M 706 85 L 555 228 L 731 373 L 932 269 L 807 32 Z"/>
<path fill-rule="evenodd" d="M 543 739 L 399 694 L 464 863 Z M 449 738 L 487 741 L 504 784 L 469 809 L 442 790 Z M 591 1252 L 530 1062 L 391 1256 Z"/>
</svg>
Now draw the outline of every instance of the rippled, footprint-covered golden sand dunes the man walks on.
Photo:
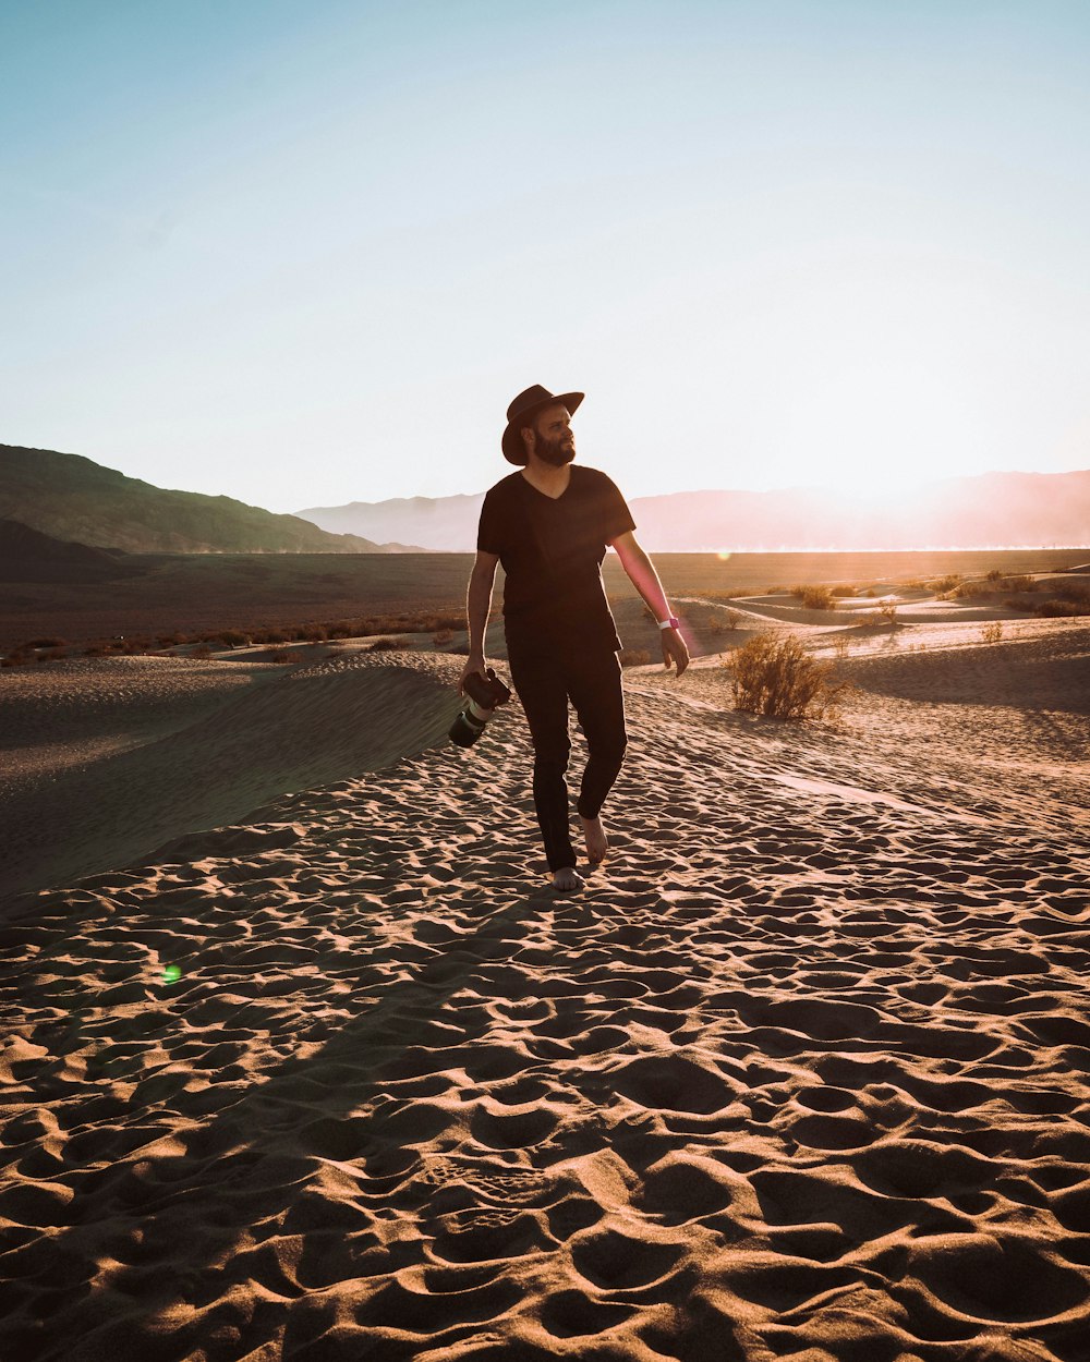
<svg viewBox="0 0 1090 1362">
<path fill-rule="evenodd" d="M 456 658 L 0 680 L 0 1358 L 1086 1362 L 1090 627 L 777 627 L 570 899 Z"/>
</svg>

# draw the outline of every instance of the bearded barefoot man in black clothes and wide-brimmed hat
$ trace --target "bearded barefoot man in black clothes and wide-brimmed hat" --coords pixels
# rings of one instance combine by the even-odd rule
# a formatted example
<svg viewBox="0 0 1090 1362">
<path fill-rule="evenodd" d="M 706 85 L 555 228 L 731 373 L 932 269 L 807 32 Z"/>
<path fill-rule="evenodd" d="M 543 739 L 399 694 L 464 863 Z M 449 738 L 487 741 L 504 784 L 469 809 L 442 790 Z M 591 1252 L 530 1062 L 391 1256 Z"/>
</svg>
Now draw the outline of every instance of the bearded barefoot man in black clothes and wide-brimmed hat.
<svg viewBox="0 0 1090 1362">
<path fill-rule="evenodd" d="M 605 858 L 601 808 L 624 759 L 620 640 L 602 588 L 606 548 L 616 550 L 636 591 L 659 621 L 662 661 L 689 665 L 685 640 L 651 560 L 636 543 L 635 522 L 617 488 L 595 469 L 574 467 L 571 417 L 582 392 L 555 396 L 540 384 L 507 409 L 501 448 L 519 466 L 485 497 L 477 560 L 469 582 L 470 673 L 485 671 L 485 628 L 496 565 L 503 564 L 504 633 L 511 680 L 534 744 L 534 806 L 553 885 L 582 888 L 568 823 L 568 701 L 590 757 L 576 805 L 587 859 Z"/>
</svg>

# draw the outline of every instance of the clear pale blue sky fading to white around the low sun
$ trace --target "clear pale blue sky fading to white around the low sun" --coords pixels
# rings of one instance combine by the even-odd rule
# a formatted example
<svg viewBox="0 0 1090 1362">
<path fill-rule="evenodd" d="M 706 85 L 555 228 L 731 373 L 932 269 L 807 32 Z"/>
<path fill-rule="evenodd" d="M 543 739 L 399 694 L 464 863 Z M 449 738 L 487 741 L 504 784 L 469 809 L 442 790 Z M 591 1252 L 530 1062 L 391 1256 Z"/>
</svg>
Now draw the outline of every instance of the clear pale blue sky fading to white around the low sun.
<svg viewBox="0 0 1090 1362">
<path fill-rule="evenodd" d="M 0 443 L 272 511 L 1090 469 L 1085 0 L 0 0 Z"/>
</svg>

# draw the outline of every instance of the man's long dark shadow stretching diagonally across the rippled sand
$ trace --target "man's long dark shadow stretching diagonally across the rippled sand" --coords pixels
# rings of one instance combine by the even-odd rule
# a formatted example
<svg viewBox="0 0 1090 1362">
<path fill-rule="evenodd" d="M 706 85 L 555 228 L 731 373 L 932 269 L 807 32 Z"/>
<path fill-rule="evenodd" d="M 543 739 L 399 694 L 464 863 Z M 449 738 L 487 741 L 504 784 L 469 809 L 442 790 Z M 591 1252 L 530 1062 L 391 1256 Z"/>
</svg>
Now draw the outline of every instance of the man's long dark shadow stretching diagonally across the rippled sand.
<svg viewBox="0 0 1090 1362">
<path fill-rule="evenodd" d="M 331 1122 L 365 1106 L 386 1092 L 387 1084 L 403 1081 L 413 1071 L 428 1073 L 441 1071 L 444 1062 L 450 1064 L 439 1058 L 421 1069 L 405 1061 L 418 1045 L 443 1049 L 436 1023 L 441 1022 L 444 1005 L 478 967 L 496 962 L 501 964 L 504 957 L 512 955 L 518 943 L 526 938 L 535 911 L 548 902 L 552 902 L 548 892 L 533 895 L 489 914 L 467 936 L 452 933 L 446 944 L 454 949 L 443 952 L 440 948 L 440 953 L 426 960 L 411 978 L 387 985 L 371 1008 L 328 1036 L 320 1049 L 285 1060 L 243 1095 L 236 1086 L 217 1091 L 213 1084 L 195 1092 L 174 1094 L 169 1100 L 149 1105 L 142 1111 L 134 1110 L 124 1124 L 119 1122 L 120 1147 L 132 1150 L 123 1156 L 121 1166 L 79 1171 L 76 1162 L 63 1170 L 53 1165 L 53 1182 L 75 1182 L 75 1197 L 67 1207 L 68 1224 L 37 1242 L 35 1237 L 18 1235 L 18 1263 L 5 1254 L 8 1265 L 15 1269 L 11 1275 L 33 1275 L 38 1290 L 27 1301 L 33 1317 L 10 1314 L 7 1323 L 0 1324 L 0 1343 L 7 1336 L 3 1355 L 18 1355 L 27 1362 L 50 1358 L 64 1358 L 65 1362 L 87 1358 L 90 1362 L 105 1355 L 124 1362 L 127 1357 L 146 1357 L 140 1348 L 150 1344 L 151 1335 L 143 1327 L 154 1316 L 185 1295 L 192 1295 L 199 1303 L 211 1303 L 232 1280 L 248 1279 L 247 1273 L 230 1278 L 233 1250 L 256 1220 L 268 1220 L 270 1214 L 290 1212 L 293 1197 L 305 1190 L 304 1184 L 319 1167 L 317 1160 L 335 1158 L 358 1163 L 362 1158 L 368 1171 L 379 1178 L 390 1167 L 411 1166 L 414 1156 L 401 1152 L 403 1140 L 383 1140 L 354 1122 L 332 1140 L 334 1147 L 330 1148 Z M 12 944 L 20 928 L 35 932 L 41 940 L 41 928 L 23 922 L 3 930 L 5 945 Z M 358 974 L 367 975 L 372 970 L 373 966 L 362 960 Z M 504 974 L 508 992 L 501 996 L 512 1002 L 526 997 L 526 990 L 518 989 L 520 968 L 512 966 Z M 342 981 L 350 977 L 339 968 L 335 975 Z M 195 982 L 195 1005 L 204 1001 L 206 992 L 203 982 Z M 184 1020 L 184 994 L 172 1001 L 176 1017 Z M 223 1027 L 229 1028 L 230 1023 L 230 1015 L 226 1015 Z M 469 1066 L 471 1072 L 480 1061 L 482 1076 L 496 1056 L 489 1049 L 474 1054 L 473 1047 L 489 1024 L 484 1007 L 461 1008 L 459 1032 L 451 1034 L 448 1042 L 451 1047 L 458 1047 L 461 1066 Z M 301 1046 L 307 1046 L 305 1034 L 300 1041 Z M 527 1068 L 537 1062 L 544 1061 L 531 1061 Z M 48 1100 L 44 1094 L 42 1107 L 48 1106 Z M 396 1103 L 396 1096 L 391 1102 Z M 382 1114 L 388 1110 L 387 1105 Z M 154 1124 L 157 1114 L 185 1143 L 184 1154 L 154 1159 L 146 1155 L 140 1159 L 139 1145 L 134 1148 L 131 1141 L 124 1143 L 125 1130 L 134 1125 L 139 1129 L 143 1124 L 140 1118 Z M 134 1117 L 138 1120 L 134 1121 Z M 360 1125 L 365 1121 L 361 1117 Z M 187 1122 L 192 1122 L 188 1129 Z M 324 1152 L 322 1148 L 315 1152 L 305 1148 L 308 1126 L 317 1132 L 316 1143 L 324 1145 Z M 69 1135 L 69 1139 L 79 1140 L 80 1135 L 86 1135 L 86 1129 Z M 89 1162 L 108 1158 L 109 1145 L 109 1137 L 104 1136 L 102 1154 Z M 78 1179 L 72 1174 L 78 1174 Z M 382 1182 L 375 1185 L 380 1188 Z M 271 1188 L 279 1189 L 282 1196 L 270 1197 Z M 277 1204 L 272 1205 L 272 1201 Z M 328 1226 L 323 1224 L 319 1214 L 317 1223 L 309 1229 L 328 1229 L 343 1235 L 343 1208 L 330 1205 Z M 125 1245 L 117 1244 L 119 1235 L 125 1239 L 131 1261 L 125 1258 Z M 143 1252 L 134 1253 L 136 1244 L 143 1245 Z M 178 1253 L 180 1245 L 189 1248 Z M 146 1261 L 140 1261 L 144 1253 L 153 1263 L 164 1256 L 168 1261 L 153 1271 Z M 110 1276 L 109 1286 L 95 1282 L 104 1254 L 128 1261 L 127 1268 Z M 395 1258 L 396 1254 L 388 1260 L 386 1271 L 398 1265 Z M 372 1261 L 361 1265 L 358 1273 L 349 1272 L 347 1276 L 382 1271 Z M 181 1287 L 180 1282 L 184 1283 Z M 120 1316 L 119 1293 L 124 1301 Z M 304 1295 L 305 1288 L 298 1287 L 296 1294 Z M 287 1303 L 283 1310 L 286 1318 Z M 125 1337 L 132 1339 L 128 1348 L 119 1344 L 120 1335 L 114 1325 L 120 1323 L 124 1324 Z M 105 1337 L 101 1325 L 109 1329 Z M 95 1329 L 99 1333 L 93 1336 Z M 86 1348 L 78 1339 L 86 1340 Z M 183 1325 L 169 1335 L 158 1333 L 155 1355 L 161 1359 L 189 1357 L 199 1342 L 203 1342 L 200 1324 Z M 244 1342 L 240 1340 L 240 1347 Z"/>
</svg>

